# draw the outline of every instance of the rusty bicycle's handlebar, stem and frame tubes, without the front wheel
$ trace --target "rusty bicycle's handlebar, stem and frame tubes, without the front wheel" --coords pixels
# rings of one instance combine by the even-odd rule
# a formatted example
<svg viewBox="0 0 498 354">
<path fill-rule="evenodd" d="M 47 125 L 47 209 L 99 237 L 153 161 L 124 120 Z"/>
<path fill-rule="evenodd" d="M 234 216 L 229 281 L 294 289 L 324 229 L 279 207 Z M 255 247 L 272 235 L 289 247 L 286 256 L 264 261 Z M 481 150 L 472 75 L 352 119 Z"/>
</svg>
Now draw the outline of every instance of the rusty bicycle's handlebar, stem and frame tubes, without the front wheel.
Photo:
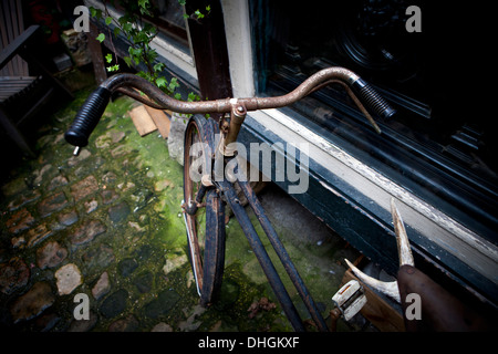
<svg viewBox="0 0 498 354">
<path fill-rule="evenodd" d="M 205 176 L 203 176 L 201 190 L 204 191 L 199 190 L 199 194 L 196 197 L 196 201 L 197 204 L 201 202 L 206 188 L 216 188 L 218 194 L 225 195 L 227 202 L 229 204 L 230 208 L 234 211 L 234 215 L 240 223 L 243 233 L 246 235 L 264 274 L 270 282 L 271 288 L 273 289 L 274 294 L 282 305 L 282 309 L 289 317 L 292 326 L 295 331 L 303 331 L 303 323 L 289 296 L 289 293 L 283 285 L 282 280 L 280 279 L 280 275 L 278 274 L 272 261 L 270 260 L 264 247 L 262 246 L 262 242 L 258 233 L 256 232 L 255 227 L 252 226 L 249 216 L 246 212 L 246 209 L 239 204 L 237 199 L 237 192 L 235 190 L 234 184 L 229 181 L 234 180 L 234 176 L 230 176 L 230 178 L 228 178 L 229 176 L 225 176 L 225 168 L 222 169 L 224 176 L 220 180 L 219 178 L 212 178 L 212 176 L 215 176 L 214 173 L 218 170 L 216 166 L 217 163 L 219 164 L 220 160 L 222 160 L 224 164 L 232 162 L 236 155 L 236 149 L 234 148 L 235 144 L 231 145 L 231 143 L 235 143 L 237 140 L 240 127 L 248 111 L 288 106 L 331 83 L 340 83 L 342 86 L 344 86 L 346 92 L 352 97 L 353 102 L 365 114 L 366 118 L 372 123 L 377 133 L 381 132 L 378 126 L 375 124 L 367 111 L 363 107 L 353 91 L 380 116 L 387 118 L 395 113 L 395 111 L 391 108 L 390 105 L 366 82 L 344 67 L 324 69 L 310 76 L 294 91 L 278 97 L 225 98 L 204 102 L 177 101 L 165 95 L 158 87 L 139 76 L 133 74 L 117 74 L 107 79 L 98 86 L 98 88 L 94 93 L 89 96 L 86 102 L 76 113 L 76 117 L 74 118 L 72 126 L 65 133 L 65 139 L 70 144 L 75 145 L 76 150 L 79 149 L 79 147 L 87 145 L 90 134 L 95 128 L 103 112 L 105 111 L 105 107 L 111 98 L 111 94 L 116 91 L 121 91 L 126 95 L 156 108 L 172 110 L 174 112 L 188 114 L 229 114 L 230 119 L 227 121 L 226 117 L 222 117 L 218 122 L 218 126 L 216 126 L 216 122 L 212 118 L 209 119 L 209 124 L 211 124 L 212 126 L 209 129 L 210 133 L 207 137 L 207 140 L 212 145 L 212 147 L 216 147 L 214 156 L 215 164 L 211 164 L 210 166 L 209 176 L 207 176 L 207 178 L 204 178 Z M 142 95 L 129 88 L 138 88 L 139 91 L 145 93 L 148 98 L 143 97 Z M 217 131 L 221 131 L 222 136 L 218 146 L 214 146 L 214 134 Z M 220 157 L 220 155 L 222 155 L 221 159 L 216 158 L 217 156 Z M 235 183 L 240 186 L 242 192 L 248 199 L 250 207 L 255 211 L 262 229 L 264 230 L 264 233 L 269 238 L 271 246 L 273 247 L 276 253 L 282 262 L 286 272 L 298 290 L 298 293 L 304 302 L 308 311 L 310 312 L 311 317 L 313 319 L 320 331 L 328 331 L 325 321 L 323 320 L 320 311 L 317 309 L 311 294 L 305 288 L 298 270 L 292 263 L 277 232 L 274 231 L 268 217 L 266 216 L 264 210 L 262 209 L 252 188 L 250 187 L 249 183 L 245 181 L 247 180 L 246 178 L 240 178 L 241 175 L 237 170 L 237 168 L 235 168 L 234 171 L 236 179 Z M 194 215 L 198 207 L 197 204 L 194 204 L 193 206 L 186 206 L 185 212 Z"/>
</svg>

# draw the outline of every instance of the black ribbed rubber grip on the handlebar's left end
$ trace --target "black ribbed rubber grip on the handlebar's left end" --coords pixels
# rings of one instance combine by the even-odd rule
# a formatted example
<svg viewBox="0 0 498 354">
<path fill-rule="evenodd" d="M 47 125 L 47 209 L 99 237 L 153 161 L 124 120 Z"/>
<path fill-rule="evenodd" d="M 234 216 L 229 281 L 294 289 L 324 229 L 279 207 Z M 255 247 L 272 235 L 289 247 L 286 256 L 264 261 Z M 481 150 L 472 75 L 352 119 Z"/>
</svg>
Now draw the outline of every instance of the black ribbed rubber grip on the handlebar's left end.
<svg viewBox="0 0 498 354">
<path fill-rule="evenodd" d="M 92 92 L 77 111 L 73 124 L 65 132 L 65 140 L 80 147 L 89 145 L 90 134 L 101 119 L 110 98 L 111 91 L 105 87 L 98 87 Z"/>
</svg>

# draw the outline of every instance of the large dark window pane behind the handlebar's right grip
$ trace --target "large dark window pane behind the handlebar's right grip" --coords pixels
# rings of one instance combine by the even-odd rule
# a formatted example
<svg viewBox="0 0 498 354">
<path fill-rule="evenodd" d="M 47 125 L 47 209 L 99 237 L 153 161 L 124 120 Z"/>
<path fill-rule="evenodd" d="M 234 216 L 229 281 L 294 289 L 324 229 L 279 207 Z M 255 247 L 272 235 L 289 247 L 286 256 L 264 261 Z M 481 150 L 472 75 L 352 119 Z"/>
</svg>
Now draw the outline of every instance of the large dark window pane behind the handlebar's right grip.
<svg viewBox="0 0 498 354">
<path fill-rule="evenodd" d="M 484 233 L 496 238 L 492 121 L 465 110 L 454 71 L 455 61 L 465 63 L 463 49 L 471 51 L 471 38 L 445 22 L 452 14 L 428 4 L 422 33 L 408 33 L 405 10 L 413 2 L 249 1 L 257 94 L 287 93 L 323 67 L 353 70 L 398 111 L 391 119 L 375 117 L 382 135 L 340 86 L 293 105 L 295 118 L 464 223 L 483 222 Z"/>
</svg>

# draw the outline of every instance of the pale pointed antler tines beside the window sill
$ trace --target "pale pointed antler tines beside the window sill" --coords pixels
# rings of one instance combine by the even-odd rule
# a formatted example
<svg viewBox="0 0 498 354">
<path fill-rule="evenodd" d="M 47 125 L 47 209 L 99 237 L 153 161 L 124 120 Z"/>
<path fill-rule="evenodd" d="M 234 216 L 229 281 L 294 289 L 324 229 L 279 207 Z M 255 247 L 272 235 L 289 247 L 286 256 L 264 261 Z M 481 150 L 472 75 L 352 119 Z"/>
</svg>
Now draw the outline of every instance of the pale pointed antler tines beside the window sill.
<svg viewBox="0 0 498 354">
<path fill-rule="evenodd" d="M 403 223 L 403 219 L 401 217 L 400 211 L 396 208 L 394 199 L 391 199 L 391 215 L 393 216 L 394 223 L 394 232 L 396 233 L 396 242 L 397 242 L 397 254 L 400 257 L 400 267 L 404 264 L 408 264 L 415 267 L 415 262 L 413 259 L 412 250 L 409 248 L 408 236 L 406 235 L 405 225 Z M 400 290 L 397 288 L 397 281 L 380 281 L 375 278 L 366 275 L 360 269 L 354 267 L 349 260 L 345 259 L 346 264 L 351 268 L 353 273 L 363 281 L 366 285 L 384 293 L 397 302 L 401 303 Z"/>
</svg>

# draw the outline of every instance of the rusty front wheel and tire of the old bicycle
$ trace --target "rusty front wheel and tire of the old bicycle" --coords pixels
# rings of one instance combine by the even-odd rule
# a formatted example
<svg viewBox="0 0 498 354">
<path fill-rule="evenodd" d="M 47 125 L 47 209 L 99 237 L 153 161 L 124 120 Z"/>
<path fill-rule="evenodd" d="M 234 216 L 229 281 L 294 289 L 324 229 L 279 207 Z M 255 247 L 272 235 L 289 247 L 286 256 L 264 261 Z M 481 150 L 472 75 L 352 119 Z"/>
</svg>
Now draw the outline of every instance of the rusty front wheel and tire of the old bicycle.
<svg viewBox="0 0 498 354">
<path fill-rule="evenodd" d="M 216 124 L 211 119 L 193 116 L 185 131 L 184 142 L 184 204 L 196 199 L 201 183 L 193 178 L 210 173 L 215 152 Z M 200 143 L 200 144 L 196 144 Z M 209 169 L 209 170 L 204 170 Z M 194 215 L 184 211 L 187 229 L 188 256 L 196 281 L 200 304 L 207 306 L 219 293 L 225 267 L 225 205 L 216 188 L 208 188 L 206 206 Z"/>
</svg>

